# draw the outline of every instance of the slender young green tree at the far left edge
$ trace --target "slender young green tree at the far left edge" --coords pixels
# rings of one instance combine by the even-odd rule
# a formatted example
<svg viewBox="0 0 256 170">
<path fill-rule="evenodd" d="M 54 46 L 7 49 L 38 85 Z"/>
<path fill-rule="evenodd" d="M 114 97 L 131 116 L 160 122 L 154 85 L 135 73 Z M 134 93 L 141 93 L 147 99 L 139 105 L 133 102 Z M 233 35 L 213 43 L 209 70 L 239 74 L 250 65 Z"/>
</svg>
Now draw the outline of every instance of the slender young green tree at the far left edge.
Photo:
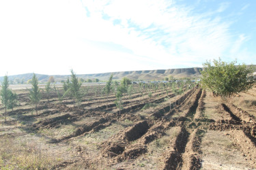
<svg viewBox="0 0 256 170">
<path fill-rule="evenodd" d="M 8 80 L 8 76 L 5 75 L 3 78 L 3 82 L 1 83 L 1 103 L 4 105 L 5 107 L 5 121 L 6 121 L 6 115 L 7 115 L 7 107 L 8 107 L 8 103 L 10 101 L 10 97 L 11 97 L 11 90 L 9 89 L 9 80 Z"/>
</svg>

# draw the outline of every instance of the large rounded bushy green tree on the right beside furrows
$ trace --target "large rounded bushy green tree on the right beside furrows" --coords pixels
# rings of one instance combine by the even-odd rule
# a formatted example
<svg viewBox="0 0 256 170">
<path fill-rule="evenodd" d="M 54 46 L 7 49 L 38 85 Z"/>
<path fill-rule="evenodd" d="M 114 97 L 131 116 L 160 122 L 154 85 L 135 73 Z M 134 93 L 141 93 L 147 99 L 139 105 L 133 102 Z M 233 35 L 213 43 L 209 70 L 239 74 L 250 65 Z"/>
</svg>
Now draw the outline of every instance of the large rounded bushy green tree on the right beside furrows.
<svg viewBox="0 0 256 170">
<path fill-rule="evenodd" d="M 226 63 L 221 58 L 203 63 L 201 74 L 201 86 L 220 95 L 223 99 L 243 92 L 253 86 L 253 67 L 247 68 L 246 65 L 235 65 L 237 62 Z"/>
</svg>

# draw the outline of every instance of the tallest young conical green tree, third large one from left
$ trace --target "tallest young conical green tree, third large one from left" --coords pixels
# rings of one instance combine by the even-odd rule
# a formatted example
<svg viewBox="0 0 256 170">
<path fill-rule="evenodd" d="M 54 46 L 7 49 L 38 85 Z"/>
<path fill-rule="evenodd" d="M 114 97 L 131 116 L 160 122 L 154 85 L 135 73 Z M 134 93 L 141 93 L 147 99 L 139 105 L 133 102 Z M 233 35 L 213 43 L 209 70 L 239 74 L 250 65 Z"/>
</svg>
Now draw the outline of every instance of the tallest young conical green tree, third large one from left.
<svg viewBox="0 0 256 170">
<path fill-rule="evenodd" d="M 69 94 L 75 103 L 79 106 L 79 102 L 81 101 L 82 98 L 82 92 L 81 92 L 81 86 L 82 83 L 79 82 L 79 79 L 76 77 L 76 74 L 74 73 L 73 69 L 71 69 L 71 80 L 68 85 L 68 90 L 64 93 L 64 96 L 66 94 Z"/>
</svg>

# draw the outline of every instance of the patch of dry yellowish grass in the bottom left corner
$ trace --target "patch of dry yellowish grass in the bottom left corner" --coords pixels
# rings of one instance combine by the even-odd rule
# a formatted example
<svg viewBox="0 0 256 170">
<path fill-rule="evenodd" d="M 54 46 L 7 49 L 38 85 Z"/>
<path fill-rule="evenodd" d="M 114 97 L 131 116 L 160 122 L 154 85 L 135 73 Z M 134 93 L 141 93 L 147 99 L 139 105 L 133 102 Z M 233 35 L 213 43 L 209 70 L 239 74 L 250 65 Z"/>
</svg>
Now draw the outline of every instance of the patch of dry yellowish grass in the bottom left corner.
<svg viewBox="0 0 256 170">
<path fill-rule="evenodd" d="M 60 161 L 43 154 L 34 143 L 17 143 L 8 135 L 1 137 L 0 143 L 1 169 L 51 169 Z"/>
</svg>

